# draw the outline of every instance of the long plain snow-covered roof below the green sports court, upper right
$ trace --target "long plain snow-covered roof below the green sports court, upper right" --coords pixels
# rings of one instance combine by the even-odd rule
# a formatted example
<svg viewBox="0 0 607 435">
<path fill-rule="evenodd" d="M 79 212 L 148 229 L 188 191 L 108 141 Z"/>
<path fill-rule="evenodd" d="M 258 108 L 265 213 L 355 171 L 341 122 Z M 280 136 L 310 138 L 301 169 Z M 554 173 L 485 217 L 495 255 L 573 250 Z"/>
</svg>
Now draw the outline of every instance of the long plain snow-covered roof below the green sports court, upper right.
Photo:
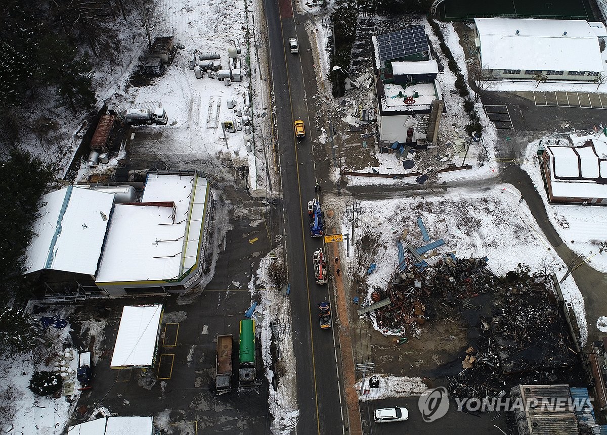
<svg viewBox="0 0 607 435">
<path fill-rule="evenodd" d="M 599 39 L 586 21 L 526 18 L 474 21 L 480 36 L 483 68 L 603 71 Z"/>
</svg>

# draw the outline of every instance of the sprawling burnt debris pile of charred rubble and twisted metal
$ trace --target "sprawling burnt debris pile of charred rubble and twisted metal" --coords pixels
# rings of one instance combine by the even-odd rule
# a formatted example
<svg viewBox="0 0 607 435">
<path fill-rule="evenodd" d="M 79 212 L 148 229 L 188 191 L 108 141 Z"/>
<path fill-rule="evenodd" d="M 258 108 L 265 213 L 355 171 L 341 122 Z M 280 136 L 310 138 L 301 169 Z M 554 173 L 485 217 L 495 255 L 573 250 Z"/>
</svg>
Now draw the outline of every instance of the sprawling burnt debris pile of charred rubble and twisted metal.
<svg viewBox="0 0 607 435">
<path fill-rule="evenodd" d="M 432 266 L 405 259 L 387 287 L 371 293 L 374 302 L 391 302 L 375 310 L 379 328 L 385 334 L 416 336 L 415 325 L 439 310 L 447 316 L 447 307 L 459 308 L 470 321 L 470 342 L 462 370 L 451 379 L 454 397 L 495 397 L 515 384 L 575 379 L 574 346 L 546 284 L 516 271 L 497 277 L 486 266 L 486 257 L 457 259 L 453 254 Z"/>
</svg>

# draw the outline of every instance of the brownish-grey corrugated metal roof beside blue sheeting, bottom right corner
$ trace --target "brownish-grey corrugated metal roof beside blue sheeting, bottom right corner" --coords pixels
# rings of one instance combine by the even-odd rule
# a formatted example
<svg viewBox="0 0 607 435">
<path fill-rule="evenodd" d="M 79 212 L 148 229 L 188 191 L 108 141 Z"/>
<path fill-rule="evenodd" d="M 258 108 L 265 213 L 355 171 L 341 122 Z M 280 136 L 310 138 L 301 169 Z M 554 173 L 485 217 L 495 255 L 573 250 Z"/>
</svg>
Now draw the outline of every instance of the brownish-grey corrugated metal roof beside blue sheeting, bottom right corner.
<svg viewBox="0 0 607 435">
<path fill-rule="evenodd" d="M 554 409 L 541 405 L 546 399 L 569 399 L 568 385 L 521 385 L 523 403 L 530 399 L 538 400 L 537 407 L 525 407 L 529 433 L 532 435 L 577 435 L 579 433 L 575 412 Z"/>
</svg>

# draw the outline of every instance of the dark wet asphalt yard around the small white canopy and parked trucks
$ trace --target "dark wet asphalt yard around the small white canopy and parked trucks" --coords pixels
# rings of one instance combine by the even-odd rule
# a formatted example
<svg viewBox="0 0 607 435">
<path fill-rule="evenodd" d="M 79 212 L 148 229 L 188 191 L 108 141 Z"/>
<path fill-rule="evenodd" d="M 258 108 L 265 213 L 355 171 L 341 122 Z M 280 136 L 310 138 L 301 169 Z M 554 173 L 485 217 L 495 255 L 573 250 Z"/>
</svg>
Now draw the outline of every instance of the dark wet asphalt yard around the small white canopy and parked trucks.
<svg viewBox="0 0 607 435">
<path fill-rule="evenodd" d="M 94 414 L 101 407 L 122 416 L 153 416 L 164 433 L 196 435 L 202 433 L 265 433 L 269 427 L 268 385 L 260 370 L 260 380 L 252 391 L 238 391 L 236 380 L 231 392 L 215 396 L 209 390 L 215 372 L 215 337 L 232 334 L 237 367 L 239 320 L 251 304 L 248 289 L 204 291 L 183 304 L 176 296 L 129 297 L 90 301 L 76 308 L 74 322 L 105 322 L 103 334 L 95 334 L 95 360 L 92 390 L 83 391 L 78 411 L 70 424 Z M 163 323 L 156 362 L 148 370 L 111 370 L 110 359 L 123 305 L 164 305 Z M 218 309 L 220 307 L 220 309 Z M 85 347 L 89 333 L 78 335 Z M 92 334 L 91 334 L 92 335 Z M 259 359 L 258 352 L 258 359 Z M 235 369 L 236 370 L 236 369 Z M 237 373 L 237 371 L 236 371 Z"/>
</svg>

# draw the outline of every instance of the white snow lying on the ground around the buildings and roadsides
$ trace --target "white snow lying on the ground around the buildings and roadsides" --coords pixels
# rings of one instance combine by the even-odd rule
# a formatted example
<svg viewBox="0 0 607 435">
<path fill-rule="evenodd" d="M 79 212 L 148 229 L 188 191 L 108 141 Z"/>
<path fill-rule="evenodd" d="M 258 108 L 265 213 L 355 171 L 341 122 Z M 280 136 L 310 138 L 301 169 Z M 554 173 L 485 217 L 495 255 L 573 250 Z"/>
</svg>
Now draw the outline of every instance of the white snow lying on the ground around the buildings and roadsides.
<svg viewBox="0 0 607 435">
<path fill-rule="evenodd" d="M 263 159 L 259 139 L 271 134 L 271 127 L 267 121 L 271 118 L 270 110 L 273 104 L 264 82 L 264 79 L 267 79 L 265 72 L 267 70 L 267 59 L 265 53 L 259 53 L 258 56 L 258 53 L 252 51 L 250 53 L 250 63 L 247 64 L 245 61 L 247 43 L 259 47 L 265 45 L 262 41 L 256 39 L 263 35 L 263 29 L 259 28 L 259 23 L 263 22 L 261 8 L 253 1 L 246 0 L 250 12 L 249 16 L 246 16 L 244 2 L 209 0 L 203 3 L 199 0 L 166 0 L 163 4 L 166 6 L 166 12 L 169 16 L 168 30 L 175 35 L 175 42 L 185 45 L 186 48 L 178 52 L 174 63 L 169 66 L 165 75 L 156 79 L 151 87 L 134 88 L 127 85 L 127 78 L 129 77 L 129 71 L 136 67 L 138 56 L 144 50 L 144 46 L 140 41 L 131 38 L 135 43 L 132 44 L 131 51 L 125 54 L 121 67 L 117 70 L 100 71 L 97 75 L 97 81 L 104 84 L 100 92 L 101 101 L 108 102 L 110 107 L 116 109 L 131 104 L 160 102 L 168 112 L 169 124 L 158 127 L 138 127 L 140 130 L 161 131 L 171 138 L 171 141 L 164 141 L 162 144 L 150 144 L 152 149 L 159 154 L 171 156 L 175 161 L 191 155 L 208 160 L 209 157 L 215 156 L 217 153 L 229 153 L 235 165 L 247 164 L 249 166 L 249 186 L 252 190 L 265 190 L 265 159 Z M 316 12 L 315 8 L 312 8 L 312 10 Z M 256 28 L 253 28 L 253 14 L 256 16 Z M 313 96 L 313 98 L 326 101 L 330 91 L 325 75 L 328 70 L 327 52 L 324 50 L 327 45 L 327 34 L 323 30 L 320 22 L 321 18 L 317 18 L 316 22 L 308 25 L 307 31 L 316 39 L 314 51 L 320 64 L 317 71 L 319 78 L 322 78 L 320 79 L 319 94 Z M 458 43 L 458 37 L 453 30 L 453 26 L 444 24 L 441 25 L 441 28 L 446 35 L 446 43 L 453 52 L 461 70 L 466 71 L 463 51 Z M 432 28 L 427 25 L 426 30 L 433 47 L 438 50 L 438 39 L 433 35 Z M 123 39 L 128 40 L 129 35 L 122 35 Z M 247 35 L 249 35 L 248 39 L 246 38 Z M 232 40 L 245 53 L 241 56 L 243 73 L 246 73 L 248 65 L 251 65 L 253 83 L 247 84 L 248 79 L 246 79 L 246 82 L 234 83 L 226 87 L 223 82 L 216 79 L 209 79 L 208 77 L 196 79 L 194 71 L 189 70 L 186 66 L 192 51 L 198 49 L 204 53 L 220 53 L 222 63 L 227 64 L 227 48 Z M 447 107 L 447 113 L 443 118 L 443 129 L 452 128 L 454 123 L 466 125 L 468 119 L 461 107 L 463 101 L 459 96 L 453 96 L 449 93 L 449 90 L 454 88 L 455 76 L 446 69 L 444 74 L 439 76 L 439 81 L 445 93 L 444 99 Z M 521 82 L 516 83 L 516 89 L 510 89 L 510 85 L 513 84 L 500 82 L 497 86 L 499 90 L 524 90 L 524 84 Z M 539 88 L 536 88 L 536 85 L 535 82 L 529 83 L 529 89 L 578 90 L 575 84 L 540 84 Z M 565 88 L 565 86 L 568 87 Z M 589 87 L 588 85 L 584 86 Z M 596 85 L 592 85 L 592 87 L 595 89 Z M 223 138 L 220 125 L 217 125 L 215 121 L 216 119 L 219 122 L 241 119 L 234 114 L 233 110 L 228 110 L 226 101 L 234 99 L 237 102 L 235 109 L 243 110 L 245 108 L 243 95 L 249 90 L 253 95 L 253 122 L 258 132 L 256 136 L 258 152 L 256 153 L 246 151 L 244 127 L 242 131 L 226 133 L 226 141 Z M 217 102 L 220 98 L 219 118 L 217 118 Z M 211 99 L 213 104 L 209 105 Z M 209 107 L 211 107 L 210 111 Z M 493 125 L 484 115 L 480 103 L 477 104 L 477 111 L 484 127 L 483 144 L 475 145 L 467 156 L 469 159 L 467 162 L 474 164 L 476 153 L 484 152 L 481 150 L 481 146 L 486 148 L 489 162 L 482 167 L 475 165 L 473 170 L 441 174 L 439 182 L 458 179 L 483 179 L 487 185 L 492 184 L 493 187 L 484 191 L 462 187 L 457 190 L 450 190 L 449 194 L 436 193 L 424 196 L 424 198 L 409 197 L 362 202 L 362 214 L 356 227 L 357 237 L 362 236 L 362 228 L 365 226 L 376 228 L 376 234 L 379 236 L 377 240 L 378 253 L 373 259 L 370 259 L 370 261 L 378 264 L 378 268 L 368 277 L 369 285 L 383 285 L 383 280 L 387 279 L 394 270 L 398 258 L 395 242 L 403 235 L 404 230 L 408 231 L 407 235 L 404 236 L 405 240 L 409 238 L 419 244 L 419 234 L 416 233 L 418 230 L 416 230 L 415 225 L 418 216 L 421 216 L 424 220 L 432 239 L 443 238 L 446 242 L 446 245 L 441 248 L 441 252 L 455 251 L 459 257 L 488 256 L 489 267 L 496 274 L 506 273 L 517 267 L 518 263 L 527 264 L 534 271 L 544 267 L 544 265 L 550 265 L 554 267 L 557 273 L 559 271 L 561 274 L 564 272 L 563 262 L 558 256 L 555 256 L 554 250 L 549 248 L 548 242 L 541 233 L 537 222 L 532 218 L 526 203 L 519 202 L 520 192 L 512 185 L 496 184 L 496 169 L 499 164 L 495 161 L 493 145 L 496 142 L 497 134 Z M 215 128 L 215 125 L 217 125 L 217 128 Z M 70 125 L 67 128 L 75 131 L 77 127 L 78 125 Z M 324 133 L 319 142 L 324 143 L 326 139 L 327 135 Z M 537 144 L 529 144 L 527 160 L 523 163 L 523 168 L 534 180 L 538 191 L 545 196 L 541 176 L 538 168 L 534 165 L 535 159 L 533 157 L 536 148 Z M 118 158 L 123 158 L 124 154 L 114 157 L 110 165 L 117 164 Z M 380 171 L 389 172 L 394 167 L 396 172 L 397 167 L 402 168 L 402 165 L 395 161 L 393 155 L 382 155 L 379 159 Z M 463 156 L 457 156 L 454 162 L 461 162 L 461 159 L 463 159 Z M 187 158 L 186 161 L 191 161 L 191 158 Z M 80 178 L 84 179 L 90 173 L 101 170 L 104 170 L 104 168 L 90 169 L 83 166 Z M 370 171 L 370 168 L 368 168 L 368 171 Z M 332 178 L 339 178 L 339 174 L 334 171 Z M 392 179 L 375 178 L 351 178 L 349 181 L 353 184 L 390 185 L 407 182 L 406 180 L 393 181 Z M 607 271 L 606 254 L 599 254 L 597 248 L 591 242 L 594 239 L 605 240 L 606 238 L 605 231 L 601 230 L 600 225 L 593 225 L 595 222 L 605 221 L 605 211 L 603 211 L 605 208 L 551 206 L 547 204 L 546 198 L 544 198 L 544 201 L 546 202 L 549 218 L 563 241 L 570 248 L 577 250 L 583 257 L 592 255 L 588 262 L 597 270 Z M 324 206 L 335 210 L 345 210 L 345 203 L 346 200 L 343 198 L 329 198 Z M 344 218 L 342 220 L 342 232 L 348 233 L 350 230 L 350 224 Z M 575 241 L 575 244 L 570 244 L 571 241 Z M 257 271 L 260 284 L 265 282 L 265 267 L 270 261 L 269 257 L 263 259 L 260 269 Z M 353 267 L 356 264 L 353 257 L 347 259 L 342 256 L 342 261 L 347 264 L 347 267 Z M 585 339 L 585 334 L 587 334 L 585 308 L 580 291 L 572 277 L 569 277 L 561 286 L 566 299 L 575 310 Z M 270 322 L 276 318 L 288 319 L 290 317 L 290 305 L 288 297 L 282 296 L 279 291 L 255 290 L 256 287 L 267 288 L 267 286 L 256 286 L 253 281 L 249 284 L 252 294 L 256 291 L 262 291 L 260 294 L 262 304 L 256 316 L 262 325 L 260 329 L 262 331 L 263 359 L 266 367 L 268 367 L 271 358 Z M 67 316 L 67 314 L 69 313 L 63 313 L 62 316 Z M 607 320 L 605 318 L 597 319 L 597 322 L 600 322 L 602 327 L 607 330 Z M 98 325 L 89 325 L 89 327 L 96 328 Z M 68 329 L 69 325 L 65 330 L 61 330 L 61 334 L 57 338 L 62 347 L 69 345 Z M 280 351 L 283 364 L 287 365 L 290 370 L 284 371 L 287 376 L 276 379 L 274 374 L 266 369 L 266 377 L 271 384 L 270 408 L 275 417 L 273 430 L 275 433 L 288 433 L 297 421 L 298 405 L 293 388 L 295 380 L 293 348 L 290 345 L 291 330 L 288 325 L 285 325 L 285 328 L 281 331 L 283 335 Z M 5 382 L 0 387 L 0 392 L 8 394 L 6 392 L 12 391 L 13 410 L 20 410 L 12 418 L 14 430 L 11 433 L 61 433 L 70 413 L 73 412 L 78 397 L 77 388 L 74 395 L 69 397 L 68 400 L 64 397 L 59 399 L 36 398 L 27 389 L 27 383 L 32 372 L 44 367 L 44 364 L 40 362 L 41 360 L 44 359 L 39 356 L 26 355 L 19 360 L 15 360 L 13 364 L 2 365 L 2 377 Z M 392 376 L 382 377 L 381 386 L 382 388 L 379 390 L 373 389 L 376 396 L 367 396 L 364 399 L 421 394 L 425 388 L 422 380 Z M 7 429 L 10 429 L 10 425 Z"/>
</svg>

